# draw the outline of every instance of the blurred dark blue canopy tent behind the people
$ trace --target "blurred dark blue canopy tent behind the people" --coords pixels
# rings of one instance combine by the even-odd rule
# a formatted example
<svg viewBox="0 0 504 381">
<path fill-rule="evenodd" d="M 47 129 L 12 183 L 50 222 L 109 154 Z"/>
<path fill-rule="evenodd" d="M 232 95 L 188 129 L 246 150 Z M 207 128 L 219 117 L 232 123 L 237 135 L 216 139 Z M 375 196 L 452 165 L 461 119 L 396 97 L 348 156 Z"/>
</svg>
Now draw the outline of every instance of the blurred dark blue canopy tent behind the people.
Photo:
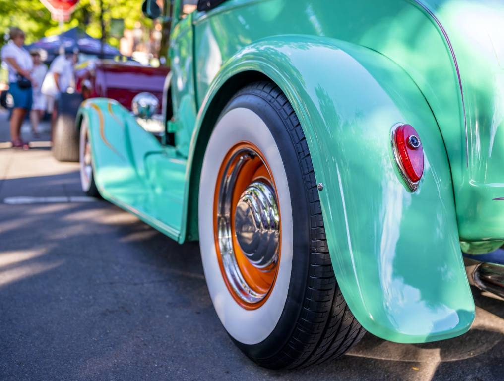
<svg viewBox="0 0 504 381">
<path fill-rule="evenodd" d="M 47 52 L 46 61 L 52 61 L 58 54 L 61 44 L 65 48 L 78 48 L 81 53 L 101 56 L 103 58 L 113 58 L 120 54 L 118 49 L 107 43 L 104 43 L 102 47 L 99 39 L 91 37 L 79 28 L 69 29 L 56 36 L 43 37 L 37 42 L 27 45 L 26 48 L 44 49 Z"/>
</svg>

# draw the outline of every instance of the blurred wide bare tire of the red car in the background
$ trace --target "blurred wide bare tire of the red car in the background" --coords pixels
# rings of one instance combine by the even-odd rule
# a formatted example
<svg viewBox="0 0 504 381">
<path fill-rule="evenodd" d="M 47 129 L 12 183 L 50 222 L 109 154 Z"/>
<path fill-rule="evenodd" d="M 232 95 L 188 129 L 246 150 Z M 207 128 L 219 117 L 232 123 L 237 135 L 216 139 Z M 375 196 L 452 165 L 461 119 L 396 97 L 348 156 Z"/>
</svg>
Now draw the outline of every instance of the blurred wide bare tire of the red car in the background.
<svg viewBox="0 0 504 381">
<path fill-rule="evenodd" d="M 59 161 L 79 161 L 79 131 L 75 116 L 82 102 L 81 94 L 60 94 L 57 118 L 52 131 L 52 154 Z"/>
</svg>

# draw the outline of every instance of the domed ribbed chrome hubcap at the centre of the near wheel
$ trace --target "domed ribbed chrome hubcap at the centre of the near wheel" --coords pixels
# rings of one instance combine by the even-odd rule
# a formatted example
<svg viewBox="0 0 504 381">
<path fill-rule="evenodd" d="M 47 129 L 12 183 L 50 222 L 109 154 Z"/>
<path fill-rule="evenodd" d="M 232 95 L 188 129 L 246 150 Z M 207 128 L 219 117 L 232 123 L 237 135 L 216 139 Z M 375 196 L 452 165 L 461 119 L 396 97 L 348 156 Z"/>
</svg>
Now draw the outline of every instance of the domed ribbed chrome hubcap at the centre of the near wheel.
<svg viewBox="0 0 504 381">
<path fill-rule="evenodd" d="M 264 269 L 278 258 L 279 223 L 277 202 L 271 187 L 254 181 L 245 189 L 236 207 L 236 238 L 247 260 Z"/>
</svg>

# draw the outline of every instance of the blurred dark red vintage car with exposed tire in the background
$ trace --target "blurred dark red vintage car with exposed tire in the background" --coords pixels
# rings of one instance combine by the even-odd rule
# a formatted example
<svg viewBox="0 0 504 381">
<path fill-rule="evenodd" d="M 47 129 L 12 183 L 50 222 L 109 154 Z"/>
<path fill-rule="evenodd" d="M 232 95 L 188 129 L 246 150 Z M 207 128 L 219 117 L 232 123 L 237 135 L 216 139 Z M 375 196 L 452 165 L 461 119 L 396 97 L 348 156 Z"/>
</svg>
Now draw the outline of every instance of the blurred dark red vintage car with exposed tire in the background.
<svg viewBox="0 0 504 381">
<path fill-rule="evenodd" d="M 61 94 L 52 134 L 52 153 L 60 161 L 79 161 L 79 132 L 75 116 L 83 100 L 104 97 L 131 109 L 135 95 L 152 93 L 162 104 L 166 67 L 146 67 L 136 61 L 90 59 L 75 69 L 74 93 Z"/>
</svg>

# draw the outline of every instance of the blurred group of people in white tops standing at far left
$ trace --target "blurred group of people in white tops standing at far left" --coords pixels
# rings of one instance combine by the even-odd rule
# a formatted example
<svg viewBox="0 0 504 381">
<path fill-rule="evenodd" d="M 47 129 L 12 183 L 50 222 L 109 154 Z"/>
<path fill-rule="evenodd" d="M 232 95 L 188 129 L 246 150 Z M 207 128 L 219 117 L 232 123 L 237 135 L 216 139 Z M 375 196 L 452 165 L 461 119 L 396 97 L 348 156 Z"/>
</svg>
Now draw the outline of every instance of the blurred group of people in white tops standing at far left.
<svg viewBox="0 0 504 381">
<path fill-rule="evenodd" d="M 9 93 L 12 96 L 10 116 L 11 142 L 14 148 L 27 148 L 21 138 L 21 125 L 29 114 L 32 133 L 38 136 L 38 124 L 46 112 L 51 114 L 51 130 L 56 117 L 58 96 L 73 85 L 78 50 L 61 46 L 59 55 L 47 69 L 40 51 L 24 48 L 25 33 L 17 27 L 9 32 L 9 42 L 2 47 L 2 61 L 9 72 Z"/>
</svg>

